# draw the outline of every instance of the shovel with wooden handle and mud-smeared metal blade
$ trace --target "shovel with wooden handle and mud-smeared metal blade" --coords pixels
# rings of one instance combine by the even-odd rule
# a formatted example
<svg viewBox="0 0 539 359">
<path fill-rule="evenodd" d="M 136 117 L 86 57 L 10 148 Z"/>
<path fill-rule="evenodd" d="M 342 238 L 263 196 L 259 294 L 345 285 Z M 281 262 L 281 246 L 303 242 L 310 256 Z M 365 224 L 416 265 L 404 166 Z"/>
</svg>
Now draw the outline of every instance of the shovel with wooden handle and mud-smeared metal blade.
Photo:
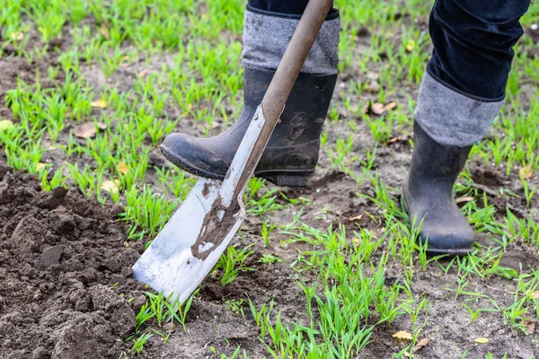
<svg viewBox="0 0 539 359">
<path fill-rule="evenodd" d="M 245 219 L 243 192 L 278 123 L 332 0 L 311 0 L 225 180 L 200 179 L 133 266 L 133 276 L 182 304 L 208 275 Z"/>
</svg>

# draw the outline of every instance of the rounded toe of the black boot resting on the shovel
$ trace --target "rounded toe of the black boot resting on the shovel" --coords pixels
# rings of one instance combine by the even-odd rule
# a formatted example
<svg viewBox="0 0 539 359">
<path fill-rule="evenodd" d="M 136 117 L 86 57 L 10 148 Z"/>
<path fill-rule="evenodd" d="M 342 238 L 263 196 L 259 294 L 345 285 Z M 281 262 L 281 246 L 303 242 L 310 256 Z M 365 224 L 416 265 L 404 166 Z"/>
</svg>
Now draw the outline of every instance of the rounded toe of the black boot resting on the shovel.
<svg viewBox="0 0 539 359">
<path fill-rule="evenodd" d="M 204 141 L 202 138 L 175 133 L 166 136 L 159 148 L 164 157 L 181 170 L 200 177 L 223 180 L 228 164 L 211 151 Z"/>
</svg>

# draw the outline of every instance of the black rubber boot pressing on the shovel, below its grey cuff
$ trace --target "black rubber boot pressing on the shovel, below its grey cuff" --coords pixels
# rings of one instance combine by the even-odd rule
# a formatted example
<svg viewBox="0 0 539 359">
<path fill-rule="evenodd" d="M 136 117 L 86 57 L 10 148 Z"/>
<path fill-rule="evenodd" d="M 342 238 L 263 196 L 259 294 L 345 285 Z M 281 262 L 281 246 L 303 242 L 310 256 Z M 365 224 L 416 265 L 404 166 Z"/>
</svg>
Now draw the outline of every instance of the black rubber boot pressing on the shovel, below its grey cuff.
<svg viewBox="0 0 539 359">
<path fill-rule="evenodd" d="M 245 66 L 244 107 L 234 126 L 210 138 L 175 133 L 161 145 L 164 156 L 194 175 L 223 180 L 275 71 Z M 300 74 L 255 176 L 278 186 L 306 186 L 320 150 L 323 121 L 337 74 Z"/>
</svg>

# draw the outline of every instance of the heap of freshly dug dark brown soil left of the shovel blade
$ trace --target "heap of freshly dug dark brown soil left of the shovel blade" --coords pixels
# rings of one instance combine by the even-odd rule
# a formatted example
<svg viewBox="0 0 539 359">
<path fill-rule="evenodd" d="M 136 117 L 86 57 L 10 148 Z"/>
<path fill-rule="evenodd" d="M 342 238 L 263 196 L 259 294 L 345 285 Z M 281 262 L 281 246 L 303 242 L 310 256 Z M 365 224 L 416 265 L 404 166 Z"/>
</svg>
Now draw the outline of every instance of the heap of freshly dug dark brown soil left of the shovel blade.
<svg viewBox="0 0 539 359">
<path fill-rule="evenodd" d="M 43 192 L 0 161 L 0 358 L 128 352 L 145 302 L 129 278 L 143 245 L 125 242 L 119 211 L 75 190 Z"/>
</svg>

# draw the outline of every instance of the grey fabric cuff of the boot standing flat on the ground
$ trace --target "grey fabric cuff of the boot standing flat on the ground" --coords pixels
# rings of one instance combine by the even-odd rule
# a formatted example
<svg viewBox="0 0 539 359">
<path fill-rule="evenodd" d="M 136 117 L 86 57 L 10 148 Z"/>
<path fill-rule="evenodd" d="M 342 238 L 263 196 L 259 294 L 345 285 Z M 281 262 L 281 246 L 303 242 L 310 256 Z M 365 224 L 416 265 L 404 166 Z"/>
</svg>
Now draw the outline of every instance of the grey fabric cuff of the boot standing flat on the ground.
<svg viewBox="0 0 539 359">
<path fill-rule="evenodd" d="M 464 147 L 487 136 L 503 102 L 466 96 L 425 73 L 415 120 L 438 144 Z"/>
</svg>

